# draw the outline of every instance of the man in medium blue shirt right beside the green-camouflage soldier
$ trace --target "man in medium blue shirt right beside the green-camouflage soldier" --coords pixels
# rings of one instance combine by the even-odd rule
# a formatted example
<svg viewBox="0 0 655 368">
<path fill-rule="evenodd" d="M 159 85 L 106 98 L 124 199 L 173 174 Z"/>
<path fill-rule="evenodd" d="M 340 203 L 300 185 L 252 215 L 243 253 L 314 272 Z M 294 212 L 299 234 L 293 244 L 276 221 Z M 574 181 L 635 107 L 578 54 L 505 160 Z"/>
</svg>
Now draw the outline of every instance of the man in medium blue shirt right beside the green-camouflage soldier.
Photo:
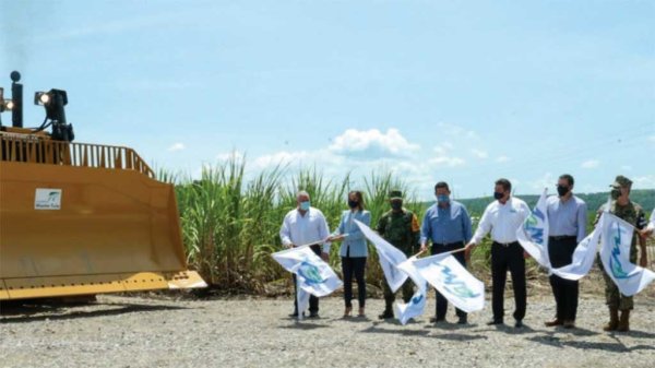
<svg viewBox="0 0 655 368">
<path fill-rule="evenodd" d="M 420 227 L 420 249 L 427 250 L 428 240 L 432 242 L 432 254 L 450 252 L 463 249 L 464 245 L 471 240 L 471 217 L 466 207 L 450 199 L 450 188 L 444 181 L 439 181 L 434 186 L 437 203 L 432 204 L 422 221 Z M 464 252 L 453 254 L 460 263 L 466 266 Z M 448 300 L 437 292 L 437 312 L 430 322 L 445 321 L 448 310 Z M 456 309 L 460 324 L 466 324 L 466 312 Z"/>
</svg>

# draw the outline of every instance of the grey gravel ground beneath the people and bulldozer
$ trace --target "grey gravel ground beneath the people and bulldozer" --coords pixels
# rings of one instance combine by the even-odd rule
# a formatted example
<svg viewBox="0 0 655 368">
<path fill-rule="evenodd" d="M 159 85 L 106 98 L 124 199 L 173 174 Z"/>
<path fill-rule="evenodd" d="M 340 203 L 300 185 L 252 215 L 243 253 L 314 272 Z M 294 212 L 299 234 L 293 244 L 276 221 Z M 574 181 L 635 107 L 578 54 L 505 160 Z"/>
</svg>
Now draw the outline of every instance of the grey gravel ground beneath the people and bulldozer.
<svg viewBox="0 0 655 368">
<path fill-rule="evenodd" d="M 0 367 L 655 367 L 655 299 L 638 297 L 633 331 L 600 331 L 606 308 L 583 296 L 579 329 L 548 329 L 550 297 L 529 297 L 526 327 L 487 327 L 490 306 L 468 327 L 342 319 L 342 300 L 321 300 L 321 318 L 296 322 L 291 300 L 172 300 L 99 296 L 82 306 L 4 307 Z M 357 305 L 355 304 L 355 307 Z M 508 310 L 512 306 L 507 305 Z M 511 320 L 511 319 L 510 319 Z M 510 322 L 510 321 L 508 321 Z"/>
</svg>

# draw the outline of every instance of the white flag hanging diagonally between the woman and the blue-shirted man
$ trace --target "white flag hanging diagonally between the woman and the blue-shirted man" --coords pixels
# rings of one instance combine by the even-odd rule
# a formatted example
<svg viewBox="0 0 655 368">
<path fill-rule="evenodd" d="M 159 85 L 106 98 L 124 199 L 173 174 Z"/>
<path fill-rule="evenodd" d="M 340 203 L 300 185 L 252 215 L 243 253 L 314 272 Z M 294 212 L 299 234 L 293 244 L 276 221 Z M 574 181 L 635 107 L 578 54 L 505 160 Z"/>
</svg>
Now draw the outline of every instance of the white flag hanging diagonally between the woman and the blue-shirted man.
<svg viewBox="0 0 655 368">
<path fill-rule="evenodd" d="M 364 236 L 366 236 L 376 247 L 386 283 L 391 290 L 395 293 L 407 280 L 407 275 L 397 269 L 398 264 L 407 260 L 407 256 L 389 244 L 389 241 L 384 240 L 376 232 L 371 230 L 370 227 L 357 219 L 355 219 L 355 223 L 359 226 Z"/>
</svg>

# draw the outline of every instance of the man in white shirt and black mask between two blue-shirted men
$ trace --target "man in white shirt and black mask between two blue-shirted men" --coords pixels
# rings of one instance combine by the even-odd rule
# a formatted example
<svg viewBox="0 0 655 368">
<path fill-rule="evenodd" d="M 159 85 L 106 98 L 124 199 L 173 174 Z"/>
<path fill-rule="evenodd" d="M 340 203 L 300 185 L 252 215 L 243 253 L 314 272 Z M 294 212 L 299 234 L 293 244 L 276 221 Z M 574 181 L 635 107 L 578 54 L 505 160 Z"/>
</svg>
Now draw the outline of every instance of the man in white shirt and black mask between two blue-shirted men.
<svg viewBox="0 0 655 368">
<path fill-rule="evenodd" d="M 487 324 L 502 324 L 504 310 L 504 284 L 508 269 L 512 274 L 514 286 L 514 327 L 523 327 L 525 317 L 527 292 L 525 285 L 525 257 L 519 241 L 516 230 L 523 226 L 523 222 L 531 211 L 527 204 L 511 197 L 512 183 L 508 179 L 498 179 L 493 191 L 496 201 L 491 202 L 478 224 L 471 242 L 466 245 L 466 251 L 471 252 L 483 238 L 491 232 L 491 304 L 493 319 Z"/>
</svg>

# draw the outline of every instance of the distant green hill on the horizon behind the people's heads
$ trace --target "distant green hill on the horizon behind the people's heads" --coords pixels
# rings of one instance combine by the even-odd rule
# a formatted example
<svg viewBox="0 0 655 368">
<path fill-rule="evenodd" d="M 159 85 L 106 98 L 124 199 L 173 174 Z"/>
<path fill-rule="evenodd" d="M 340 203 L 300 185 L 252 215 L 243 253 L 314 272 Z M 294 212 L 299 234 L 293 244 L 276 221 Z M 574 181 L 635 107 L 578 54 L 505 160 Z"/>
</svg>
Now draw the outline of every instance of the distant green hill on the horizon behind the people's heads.
<svg viewBox="0 0 655 368">
<path fill-rule="evenodd" d="M 590 194 L 575 193 L 575 195 L 580 197 L 582 200 L 584 200 L 586 202 L 590 213 L 594 213 L 598 210 L 598 207 L 602 204 L 607 202 L 608 192 L 590 193 Z M 533 195 L 517 195 L 517 197 L 521 198 L 522 200 L 524 200 L 531 207 L 533 207 L 537 203 L 537 200 L 539 199 L 539 195 L 534 195 L 534 194 Z M 630 200 L 641 204 L 642 207 L 646 211 L 646 215 L 648 216 L 651 214 L 651 211 L 653 211 L 653 207 L 655 207 L 655 189 L 632 190 L 632 192 L 630 193 Z M 472 215 L 479 216 L 483 214 L 483 212 L 485 212 L 485 209 L 491 201 L 493 201 L 493 199 L 491 197 L 486 197 L 486 198 L 474 198 L 474 199 L 465 199 L 465 200 L 457 200 L 457 201 L 463 203 L 464 205 L 466 205 L 466 209 L 468 209 L 468 212 Z"/>
</svg>

